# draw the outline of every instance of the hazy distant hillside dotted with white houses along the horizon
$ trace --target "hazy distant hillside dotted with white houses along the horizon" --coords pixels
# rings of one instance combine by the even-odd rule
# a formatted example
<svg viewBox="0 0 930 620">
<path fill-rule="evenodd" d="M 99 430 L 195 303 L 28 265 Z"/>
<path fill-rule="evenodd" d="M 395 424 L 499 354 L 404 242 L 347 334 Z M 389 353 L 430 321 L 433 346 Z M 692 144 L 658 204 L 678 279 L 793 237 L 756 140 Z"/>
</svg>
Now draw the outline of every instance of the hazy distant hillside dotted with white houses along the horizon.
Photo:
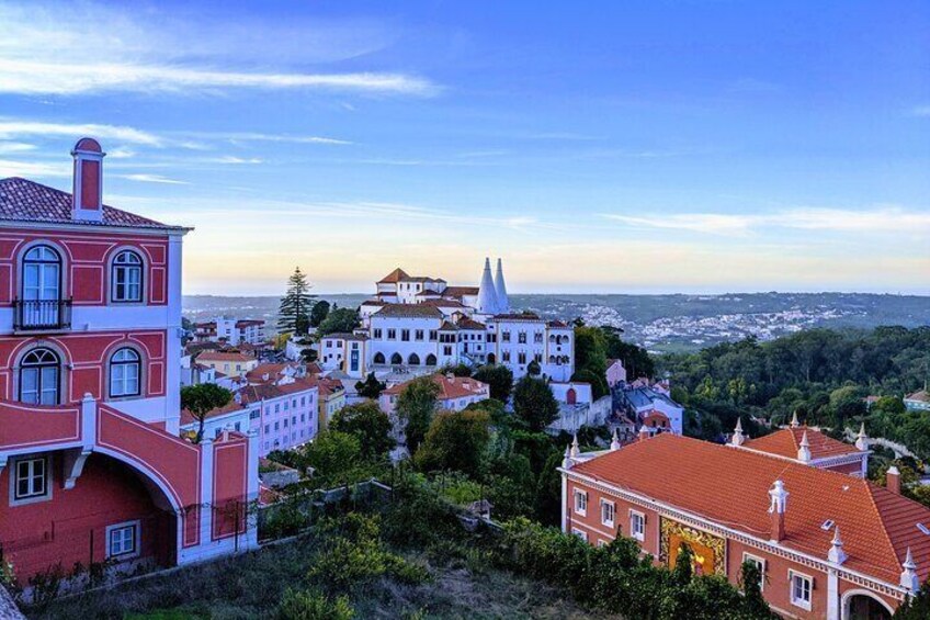
<svg viewBox="0 0 930 620">
<path fill-rule="evenodd" d="M 356 307 L 367 295 L 321 295 Z M 264 318 L 274 325 L 277 297 L 184 297 L 184 315 Z M 730 293 L 726 295 L 512 295 L 511 304 L 545 317 L 612 325 L 653 351 L 688 351 L 755 335 L 762 340 L 810 327 L 930 325 L 930 297 L 867 293 Z"/>
</svg>

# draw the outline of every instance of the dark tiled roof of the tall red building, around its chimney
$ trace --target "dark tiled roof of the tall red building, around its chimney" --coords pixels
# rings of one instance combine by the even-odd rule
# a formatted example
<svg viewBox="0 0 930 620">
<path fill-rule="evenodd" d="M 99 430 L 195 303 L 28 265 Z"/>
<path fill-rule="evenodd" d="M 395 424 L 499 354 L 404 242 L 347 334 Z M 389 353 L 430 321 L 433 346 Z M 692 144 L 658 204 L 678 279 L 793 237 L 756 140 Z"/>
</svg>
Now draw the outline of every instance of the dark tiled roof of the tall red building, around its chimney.
<svg viewBox="0 0 930 620">
<path fill-rule="evenodd" d="M 19 177 L 0 179 L 0 221 L 184 229 L 181 226 L 169 226 L 109 205 L 103 206 L 103 219 L 100 222 L 75 219 L 71 217 L 71 205 L 72 199 L 68 192 Z"/>
</svg>

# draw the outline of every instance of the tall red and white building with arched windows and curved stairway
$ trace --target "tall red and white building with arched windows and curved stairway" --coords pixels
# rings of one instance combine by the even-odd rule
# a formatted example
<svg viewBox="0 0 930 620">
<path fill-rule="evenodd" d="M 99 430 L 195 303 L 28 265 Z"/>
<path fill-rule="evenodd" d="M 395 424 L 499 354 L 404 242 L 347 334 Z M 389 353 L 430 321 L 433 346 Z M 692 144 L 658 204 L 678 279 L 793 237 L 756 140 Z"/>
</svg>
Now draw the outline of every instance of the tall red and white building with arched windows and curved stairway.
<svg viewBox="0 0 930 620">
<path fill-rule="evenodd" d="M 179 437 L 189 229 L 105 205 L 97 140 L 71 155 L 71 193 L 0 180 L 3 557 L 25 583 L 256 546 L 258 438 Z"/>
</svg>

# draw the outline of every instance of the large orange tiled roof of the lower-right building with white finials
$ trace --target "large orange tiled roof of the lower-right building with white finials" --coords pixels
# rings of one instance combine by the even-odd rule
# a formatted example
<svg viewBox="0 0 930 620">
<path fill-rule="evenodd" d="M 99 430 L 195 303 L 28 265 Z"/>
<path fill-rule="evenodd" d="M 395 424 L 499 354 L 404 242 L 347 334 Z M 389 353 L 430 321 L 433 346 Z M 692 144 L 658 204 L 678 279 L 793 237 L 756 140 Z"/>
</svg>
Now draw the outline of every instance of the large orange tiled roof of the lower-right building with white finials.
<svg viewBox="0 0 930 620">
<path fill-rule="evenodd" d="M 897 584 L 909 546 L 921 579 L 930 574 L 930 508 L 867 481 L 767 454 L 660 433 L 608 452 L 570 472 L 699 515 L 708 521 L 770 537 L 769 489 L 776 480 L 789 492 L 784 546 L 827 560 L 840 528 L 843 566 Z"/>
</svg>

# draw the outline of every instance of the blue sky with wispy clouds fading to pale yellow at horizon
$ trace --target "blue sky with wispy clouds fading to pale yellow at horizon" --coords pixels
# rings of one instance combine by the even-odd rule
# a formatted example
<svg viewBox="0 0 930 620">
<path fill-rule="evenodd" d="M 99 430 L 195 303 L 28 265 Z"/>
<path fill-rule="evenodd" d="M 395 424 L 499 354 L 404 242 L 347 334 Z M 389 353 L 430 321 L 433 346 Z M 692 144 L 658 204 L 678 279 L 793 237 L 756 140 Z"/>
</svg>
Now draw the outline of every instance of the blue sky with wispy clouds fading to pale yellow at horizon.
<svg viewBox="0 0 930 620">
<path fill-rule="evenodd" d="M 189 294 L 930 294 L 926 1 L 0 0 L 0 178 L 83 135 Z"/>
</svg>

